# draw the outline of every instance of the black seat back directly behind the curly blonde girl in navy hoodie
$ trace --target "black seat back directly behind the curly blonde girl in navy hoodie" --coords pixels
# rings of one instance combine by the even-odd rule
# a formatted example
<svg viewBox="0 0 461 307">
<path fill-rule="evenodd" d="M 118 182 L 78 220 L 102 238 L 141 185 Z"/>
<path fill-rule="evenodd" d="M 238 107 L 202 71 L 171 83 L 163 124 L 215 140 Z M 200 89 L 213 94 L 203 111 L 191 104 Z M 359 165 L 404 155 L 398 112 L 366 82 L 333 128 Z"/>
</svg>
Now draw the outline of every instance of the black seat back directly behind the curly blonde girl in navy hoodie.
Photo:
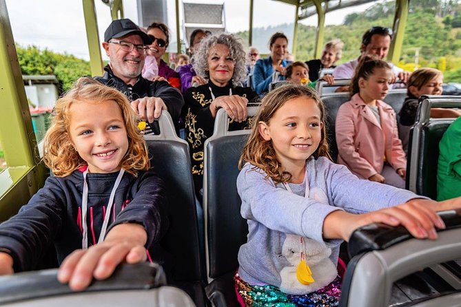
<svg viewBox="0 0 461 307">
<path fill-rule="evenodd" d="M 158 125 L 160 134 L 145 136 L 145 140 L 154 156 L 152 167 L 165 182 L 167 190 L 170 227 L 161 246 L 174 258 L 172 277 L 175 282 L 205 281 L 205 262 L 198 244 L 189 146 L 176 136 L 168 112 L 162 112 Z"/>
</svg>

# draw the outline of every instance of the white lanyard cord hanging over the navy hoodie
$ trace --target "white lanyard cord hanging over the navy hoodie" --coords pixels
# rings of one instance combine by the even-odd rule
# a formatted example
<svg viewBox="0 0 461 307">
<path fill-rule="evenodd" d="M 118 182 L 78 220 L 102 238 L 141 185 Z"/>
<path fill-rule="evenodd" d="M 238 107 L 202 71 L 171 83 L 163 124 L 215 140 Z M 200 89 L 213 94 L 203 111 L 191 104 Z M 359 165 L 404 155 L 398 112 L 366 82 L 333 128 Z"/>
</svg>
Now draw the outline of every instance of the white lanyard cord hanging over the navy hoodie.
<svg viewBox="0 0 461 307">
<path fill-rule="evenodd" d="M 88 168 L 83 172 L 83 195 L 81 200 L 81 228 L 83 231 L 83 238 L 81 240 L 81 247 L 83 249 L 88 248 L 88 226 L 86 224 L 86 213 L 88 211 L 88 183 L 86 182 L 86 174 L 88 173 Z M 123 167 L 119 171 L 119 176 L 117 176 L 114 187 L 110 192 L 109 203 L 107 204 L 107 209 L 105 211 L 105 217 L 103 226 L 101 227 L 101 233 L 99 234 L 98 243 L 103 242 L 105 237 L 105 232 L 107 231 L 107 225 L 109 224 L 110 212 L 112 211 L 112 205 L 114 204 L 114 197 L 117 188 L 122 180 L 123 173 L 125 173 L 125 169 Z"/>
</svg>

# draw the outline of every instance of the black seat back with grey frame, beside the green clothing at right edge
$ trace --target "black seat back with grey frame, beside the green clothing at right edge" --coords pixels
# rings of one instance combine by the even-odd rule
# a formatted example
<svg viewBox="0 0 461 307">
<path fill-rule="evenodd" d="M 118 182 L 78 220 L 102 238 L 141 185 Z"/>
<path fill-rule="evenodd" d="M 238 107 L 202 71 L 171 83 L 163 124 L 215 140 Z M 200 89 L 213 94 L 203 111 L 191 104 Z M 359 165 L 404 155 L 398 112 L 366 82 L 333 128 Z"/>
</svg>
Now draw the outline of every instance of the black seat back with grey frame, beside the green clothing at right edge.
<svg viewBox="0 0 461 307">
<path fill-rule="evenodd" d="M 431 107 L 461 107 L 458 96 L 422 96 L 411 128 L 407 155 L 407 189 L 437 198 L 439 142 L 453 118 L 430 118 Z"/>
</svg>

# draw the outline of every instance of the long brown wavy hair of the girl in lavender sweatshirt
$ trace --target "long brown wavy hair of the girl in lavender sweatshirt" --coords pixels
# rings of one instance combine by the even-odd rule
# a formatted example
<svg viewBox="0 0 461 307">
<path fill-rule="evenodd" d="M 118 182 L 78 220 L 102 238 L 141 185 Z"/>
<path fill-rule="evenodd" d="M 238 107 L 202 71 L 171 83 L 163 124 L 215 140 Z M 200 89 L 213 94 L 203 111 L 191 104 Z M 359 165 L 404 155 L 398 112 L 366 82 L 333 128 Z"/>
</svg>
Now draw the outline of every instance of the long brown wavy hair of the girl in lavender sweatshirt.
<svg viewBox="0 0 461 307">
<path fill-rule="evenodd" d="M 258 114 L 256 114 L 253 120 L 252 132 L 249 135 L 247 144 L 243 147 L 243 153 L 238 161 L 240 169 L 243 166 L 243 162 L 249 162 L 254 165 L 254 169 L 262 169 L 265 173 L 267 173 L 267 178 L 272 178 L 274 182 L 289 182 L 289 180 L 291 180 L 291 173 L 283 171 L 281 163 L 276 158 L 276 152 L 274 145 L 272 145 L 272 140 L 265 140 L 262 136 L 260 136 L 258 125 L 260 122 L 269 125 L 269 122 L 275 112 L 277 112 L 277 110 L 280 109 L 280 107 L 282 107 L 288 100 L 303 96 L 316 102 L 318 109 L 320 109 L 320 121 L 323 123 L 320 144 L 318 145 L 316 151 L 314 151 L 313 156 L 314 158 L 324 156 L 331 160 L 326 138 L 325 105 L 323 105 L 322 100 L 314 89 L 289 83 L 274 89 L 263 98 Z"/>
</svg>

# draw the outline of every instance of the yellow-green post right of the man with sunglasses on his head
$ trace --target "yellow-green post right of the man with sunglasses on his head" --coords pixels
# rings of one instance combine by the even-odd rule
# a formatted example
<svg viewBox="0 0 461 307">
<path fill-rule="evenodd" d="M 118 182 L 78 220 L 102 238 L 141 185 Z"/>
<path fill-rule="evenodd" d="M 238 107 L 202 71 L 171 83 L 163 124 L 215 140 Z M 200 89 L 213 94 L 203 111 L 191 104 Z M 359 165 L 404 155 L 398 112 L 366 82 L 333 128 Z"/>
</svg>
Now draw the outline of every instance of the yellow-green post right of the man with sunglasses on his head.
<svg viewBox="0 0 461 307">
<path fill-rule="evenodd" d="M 396 15 L 393 19 L 393 39 L 387 59 L 397 64 L 402 54 L 403 37 L 405 34 L 405 25 L 407 25 L 409 0 L 396 1 Z"/>
</svg>

